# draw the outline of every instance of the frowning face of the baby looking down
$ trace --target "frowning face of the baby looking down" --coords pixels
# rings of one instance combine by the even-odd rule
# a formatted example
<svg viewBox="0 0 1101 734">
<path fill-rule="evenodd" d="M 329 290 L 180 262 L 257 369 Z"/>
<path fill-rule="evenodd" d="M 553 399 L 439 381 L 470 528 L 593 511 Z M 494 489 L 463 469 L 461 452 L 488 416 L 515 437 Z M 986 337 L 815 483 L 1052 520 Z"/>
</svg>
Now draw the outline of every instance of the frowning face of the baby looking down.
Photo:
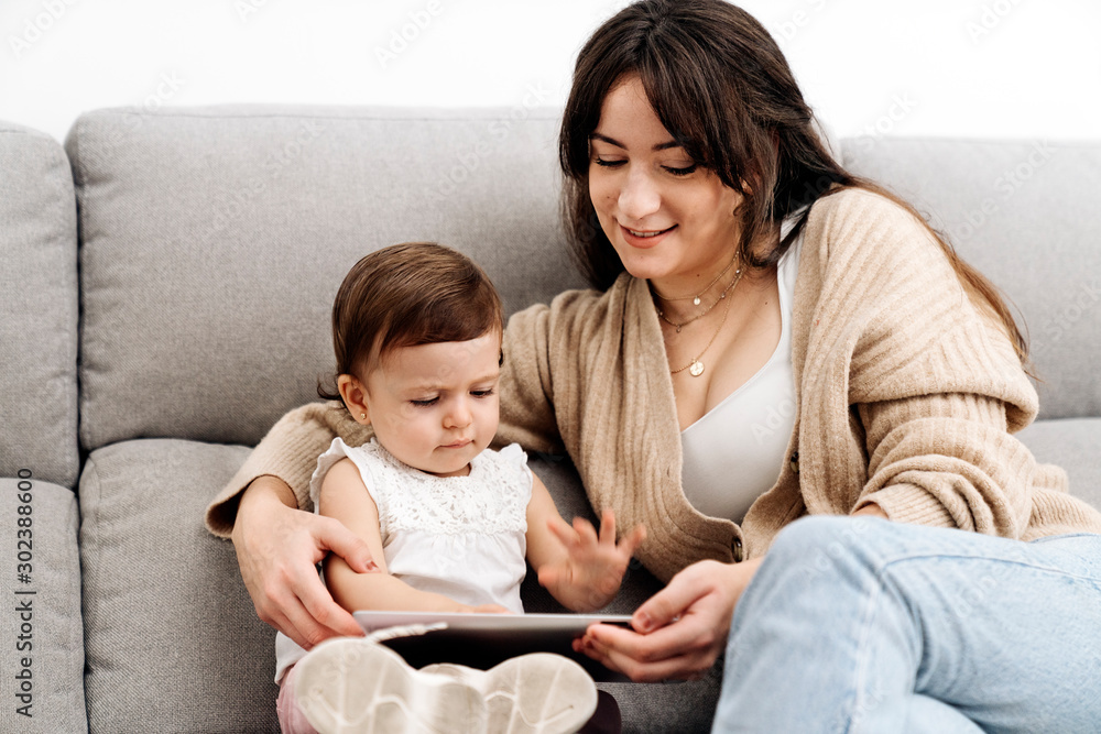
<svg viewBox="0 0 1101 734">
<path fill-rule="evenodd" d="M 497 434 L 501 333 L 400 347 L 367 377 L 379 442 L 406 464 L 440 476 L 469 473 Z"/>
</svg>

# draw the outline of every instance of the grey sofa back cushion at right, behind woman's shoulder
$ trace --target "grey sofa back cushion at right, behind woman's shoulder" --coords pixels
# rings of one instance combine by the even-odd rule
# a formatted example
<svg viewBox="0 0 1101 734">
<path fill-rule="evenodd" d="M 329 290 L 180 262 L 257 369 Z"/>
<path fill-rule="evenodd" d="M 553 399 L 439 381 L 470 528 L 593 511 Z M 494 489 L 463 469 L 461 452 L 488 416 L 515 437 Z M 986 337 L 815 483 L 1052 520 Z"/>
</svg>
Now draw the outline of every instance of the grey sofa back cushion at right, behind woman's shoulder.
<svg viewBox="0 0 1101 734">
<path fill-rule="evenodd" d="M 854 173 L 948 234 L 1024 316 L 1040 417 L 1101 415 L 1101 144 L 862 138 Z"/>
</svg>

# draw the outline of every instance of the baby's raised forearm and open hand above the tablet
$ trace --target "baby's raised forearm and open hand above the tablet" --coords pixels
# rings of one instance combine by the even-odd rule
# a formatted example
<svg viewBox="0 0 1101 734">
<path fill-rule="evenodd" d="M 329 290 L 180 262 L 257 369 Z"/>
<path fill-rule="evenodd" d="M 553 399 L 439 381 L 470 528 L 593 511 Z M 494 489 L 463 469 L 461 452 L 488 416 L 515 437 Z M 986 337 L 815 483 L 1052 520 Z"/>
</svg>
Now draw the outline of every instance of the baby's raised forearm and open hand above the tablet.
<svg viewBox="0 0 1101 734">
<path fill-rule="evenodd" d="M 527 560 L 563 605 L 575 612 L 595 612 L 619 591 L 634 549 L 646 539 L 642 525 L 615 543 L 615 515 L 606 510 L 598 534 L 580 517 L 570 526 L 558 514 L 550 493 L 533 475 L 527 503 Z M 372 549 L 373 551 L 373 549 Z"/>
</svg>

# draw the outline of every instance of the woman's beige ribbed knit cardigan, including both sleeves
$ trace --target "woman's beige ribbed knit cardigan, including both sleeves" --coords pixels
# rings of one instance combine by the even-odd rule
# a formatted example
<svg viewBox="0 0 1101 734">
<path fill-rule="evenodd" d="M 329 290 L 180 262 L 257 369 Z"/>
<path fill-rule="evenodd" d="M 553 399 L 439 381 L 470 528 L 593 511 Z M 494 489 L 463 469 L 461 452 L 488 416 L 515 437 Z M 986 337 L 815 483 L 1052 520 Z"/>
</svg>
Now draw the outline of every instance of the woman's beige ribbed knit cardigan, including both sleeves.
<svg viewBox="0 0 1101 734">
<path fill-rule="evenodd" d="M 792 318 L 795 427 L 778 480 L 741 526 L 707 517 L 680 487 L 680 434 L 662 331 L 645 281 L 573 291 L 515 314 L 504 339 L 499 442 L 565 450 L 593 508 L 644 523 L 636 556 L 668 580 L 705 558 L 763 555 L 806 514 L 875 503 L 891 519 L 1033 539 L 1101 533 L 1011 434 L 1036 392 L 1004 331 L 969 300 L 939 244 L 909 212 L 865 190 L 810 210 Z M 232 529 L 237 499 L 273 474 L 309 507 L 308 481 L 334 436 L 369 430 L 333 404 L 284 416 L 207 508 Z M 731 450 L 737 450 L 732 447 Z"/>
</svg>

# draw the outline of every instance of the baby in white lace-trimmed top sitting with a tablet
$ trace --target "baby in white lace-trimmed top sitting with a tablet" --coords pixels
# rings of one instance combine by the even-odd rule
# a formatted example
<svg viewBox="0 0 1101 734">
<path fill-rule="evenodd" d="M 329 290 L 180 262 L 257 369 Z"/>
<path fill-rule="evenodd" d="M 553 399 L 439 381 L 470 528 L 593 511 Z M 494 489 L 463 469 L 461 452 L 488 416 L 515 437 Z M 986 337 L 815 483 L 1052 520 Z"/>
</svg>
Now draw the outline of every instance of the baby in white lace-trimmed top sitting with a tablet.
<svg viewBox="0 0 1101 734">
<path fill-rule="evenodd" d="M 611 512 L 599 532 L 567 524 L 519 446 L 488 448 L 503 329 L 482 270 L 438 244 L 379 250 L 345 277 L 333 308 L 337 394 L 323 394 L 374 436 L 363 446 L 334 439 L 310 495 L 379 566 L 358 573 L 337 556 L 326 561 L 325 582 L 349 611 L 522 613 L 525 558 L 571 610 L 598 610 L 619 590 L 644 528 L 617 541 Z M 414 671 L 362 638 L 307 655 L 280 635 L 276 654 L 284 732 L 382 731 L 383 720 L 399 722 L 393 731 L 508 731 L 517 716 L 537 720 L 537 731 L 574 731 L 596 708 L 591 679 L 555 655 L 480 673 Z"/>
</svg>

